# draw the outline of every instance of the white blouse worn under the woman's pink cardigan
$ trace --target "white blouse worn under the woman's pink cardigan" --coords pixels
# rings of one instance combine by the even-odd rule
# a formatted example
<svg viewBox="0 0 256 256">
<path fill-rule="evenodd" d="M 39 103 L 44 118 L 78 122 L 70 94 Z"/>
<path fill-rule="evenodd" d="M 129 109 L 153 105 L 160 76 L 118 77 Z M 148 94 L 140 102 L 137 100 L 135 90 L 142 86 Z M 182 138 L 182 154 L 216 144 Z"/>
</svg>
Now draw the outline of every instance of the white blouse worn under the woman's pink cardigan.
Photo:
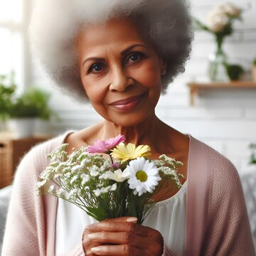
<svg viewBox="0 0 256 256">
<path fill-rule="evenodd" d="M 156 203 L 143 223 L 143 225 L 159 230 L 167 247 L 177 256 L 182 256 L 184 252 L 186 193 L 187 181 L 174 196 Z M 97 220 L 87 215 L 78 206 L 59 198 L 56 220 L 56 255 L 73 250 L 81 240 L 85 227 L 96 222 Z"/>
</svg>

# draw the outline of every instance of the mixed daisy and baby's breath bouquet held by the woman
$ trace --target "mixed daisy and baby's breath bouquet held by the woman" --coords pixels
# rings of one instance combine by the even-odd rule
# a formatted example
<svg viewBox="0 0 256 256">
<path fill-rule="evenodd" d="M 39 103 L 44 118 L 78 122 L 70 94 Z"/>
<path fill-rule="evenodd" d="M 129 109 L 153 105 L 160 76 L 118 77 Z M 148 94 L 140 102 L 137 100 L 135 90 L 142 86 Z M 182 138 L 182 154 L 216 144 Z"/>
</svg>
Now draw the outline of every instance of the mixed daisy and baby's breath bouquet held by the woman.
<svg viewBox="0 0 256 256">
<path fill-rule="evenodd" d="M 156 204 L 152 196 L 173 184 L 181 187 L 182 163 L 166 155 L 149 160 L 149 146 L 125 145 L 124 140 L 119 134 L 70 155 L 65 151 L 68 144 L 62 144 L 48 154 L 50 164 L 40 175 L 36 193 L 63 198 L 99 221 L 134 216 L 143 223 Z"/>
</svg>

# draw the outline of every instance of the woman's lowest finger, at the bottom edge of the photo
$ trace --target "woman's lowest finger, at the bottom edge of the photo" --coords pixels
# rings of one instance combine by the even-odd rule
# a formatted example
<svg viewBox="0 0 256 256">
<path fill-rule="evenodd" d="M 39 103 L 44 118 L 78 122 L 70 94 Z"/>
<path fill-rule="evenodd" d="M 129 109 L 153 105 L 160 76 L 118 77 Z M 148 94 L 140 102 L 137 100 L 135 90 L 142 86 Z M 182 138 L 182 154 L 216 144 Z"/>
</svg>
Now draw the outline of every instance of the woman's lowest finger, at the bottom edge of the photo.
<svg viewBox="0 0 256 256">
<path fill-rule="evenodd" d="M 119 256 L 143 256 L 144 251 L 131 245 L 101 245 L 92 247 L 92 252 L 96 255 L 119 255 Z"/>
</svg>

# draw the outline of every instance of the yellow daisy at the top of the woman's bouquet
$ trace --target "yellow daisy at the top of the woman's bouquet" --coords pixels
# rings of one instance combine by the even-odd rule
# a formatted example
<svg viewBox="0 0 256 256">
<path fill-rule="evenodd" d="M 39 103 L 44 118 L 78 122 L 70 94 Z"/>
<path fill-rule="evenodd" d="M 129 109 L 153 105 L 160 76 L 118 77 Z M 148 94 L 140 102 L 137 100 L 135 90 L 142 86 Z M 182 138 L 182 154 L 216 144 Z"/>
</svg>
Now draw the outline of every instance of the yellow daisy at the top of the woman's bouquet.
<svg viewBox="0 0 256 256">
<path fill-rule="evenodd" d="M 127 160 L 137 159 L 141 156 L 150 156 L 150 146 L 139 145 L 135 146 L 132 143 L 124 145 L 123 143 L 112 149 L 111 156 L 114 159 L 122 160 L 122 163 Z"/>
</svg>

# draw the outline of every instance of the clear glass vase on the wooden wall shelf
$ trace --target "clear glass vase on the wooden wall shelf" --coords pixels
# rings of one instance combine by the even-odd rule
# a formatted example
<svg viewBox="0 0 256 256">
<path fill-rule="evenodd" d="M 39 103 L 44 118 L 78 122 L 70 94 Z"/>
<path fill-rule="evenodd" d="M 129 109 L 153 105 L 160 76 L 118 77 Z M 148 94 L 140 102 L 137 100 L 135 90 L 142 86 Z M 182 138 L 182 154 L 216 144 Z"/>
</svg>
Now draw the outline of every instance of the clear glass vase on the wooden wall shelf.
<svg viewBox="0 0 256 256">
<path fill-rule="evenodd" d="M 227 63 L 227 56 L 223 52 L 221 46 L 218 46 L 214 53 L 208 57 L 208 76 L 213 82 L 227 82 L 229 81 L 228 74 L 225 69 Z"/>
</svg>

